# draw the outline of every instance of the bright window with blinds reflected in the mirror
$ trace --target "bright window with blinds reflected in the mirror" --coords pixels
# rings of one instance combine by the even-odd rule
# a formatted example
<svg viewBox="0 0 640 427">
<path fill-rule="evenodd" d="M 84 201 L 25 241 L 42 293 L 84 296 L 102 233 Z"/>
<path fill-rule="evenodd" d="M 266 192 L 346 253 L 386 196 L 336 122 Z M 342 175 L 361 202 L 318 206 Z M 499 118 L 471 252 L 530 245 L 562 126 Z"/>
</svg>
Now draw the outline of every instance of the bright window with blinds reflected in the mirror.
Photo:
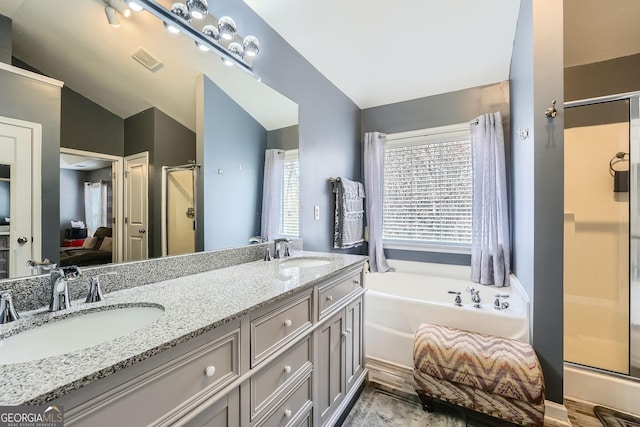
<svg viewBox="0 0 640 427">
<path fill-rule="evenodd" d="M 286 150 L 284 152 L 284 180 L 282 182 L 281 236 L 298 237 L 300 235 L 299 169 L 298 150 Z"/>
</svg>

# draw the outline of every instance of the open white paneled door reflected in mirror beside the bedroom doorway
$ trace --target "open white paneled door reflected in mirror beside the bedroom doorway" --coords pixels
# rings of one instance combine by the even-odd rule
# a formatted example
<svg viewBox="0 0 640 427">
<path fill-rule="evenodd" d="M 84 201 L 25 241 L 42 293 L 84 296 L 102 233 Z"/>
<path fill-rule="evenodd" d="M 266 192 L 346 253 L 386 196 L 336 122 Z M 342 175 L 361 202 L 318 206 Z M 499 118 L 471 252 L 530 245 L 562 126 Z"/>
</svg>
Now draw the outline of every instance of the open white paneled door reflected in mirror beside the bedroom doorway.
<svg viewBox="0 0 640 427">
<path fill-rule="evenodd" d="M 125 157 L 124 164 L 124 260 L 137 261 L 149 256 L 149 153 Z"/>
</svg>

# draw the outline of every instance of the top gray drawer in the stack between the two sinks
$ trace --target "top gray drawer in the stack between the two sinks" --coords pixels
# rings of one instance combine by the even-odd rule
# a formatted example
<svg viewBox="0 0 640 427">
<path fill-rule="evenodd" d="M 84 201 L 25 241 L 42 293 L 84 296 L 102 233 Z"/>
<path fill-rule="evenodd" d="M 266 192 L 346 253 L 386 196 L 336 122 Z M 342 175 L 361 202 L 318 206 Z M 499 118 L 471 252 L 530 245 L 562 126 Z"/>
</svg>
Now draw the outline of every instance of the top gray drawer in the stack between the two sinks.
<svg viewBox="0 0 640 427">
<path fill-rule="evenodd" d="M 251 366 L 311 326 L 311 294 L 251 321 Z"/>
</svg>

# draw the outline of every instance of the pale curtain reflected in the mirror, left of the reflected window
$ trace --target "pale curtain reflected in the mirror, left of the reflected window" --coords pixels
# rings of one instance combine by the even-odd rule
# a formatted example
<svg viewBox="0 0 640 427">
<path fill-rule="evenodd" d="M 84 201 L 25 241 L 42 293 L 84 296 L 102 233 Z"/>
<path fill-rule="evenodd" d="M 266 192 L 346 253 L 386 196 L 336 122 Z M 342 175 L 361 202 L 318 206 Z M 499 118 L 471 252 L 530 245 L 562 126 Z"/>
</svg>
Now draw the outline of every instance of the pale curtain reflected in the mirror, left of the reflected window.
<svg viewBox="0 0 640 427">
<path fill-rule="evenodd" d="M 284 151 L 267 150 L 264 156 L 262 222 L 260 230 L 260 235 L 267 241 L 271 241 L 280 235 L 283 180 Z"/>
</svg>

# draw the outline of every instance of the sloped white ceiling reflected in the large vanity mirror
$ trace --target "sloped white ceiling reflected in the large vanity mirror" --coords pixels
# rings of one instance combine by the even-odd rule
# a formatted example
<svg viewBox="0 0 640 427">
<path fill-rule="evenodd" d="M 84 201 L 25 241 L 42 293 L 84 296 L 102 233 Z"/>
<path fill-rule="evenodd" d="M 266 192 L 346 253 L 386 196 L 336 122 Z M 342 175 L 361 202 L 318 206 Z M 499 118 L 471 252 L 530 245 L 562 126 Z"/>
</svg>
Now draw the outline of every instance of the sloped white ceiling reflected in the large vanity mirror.
<svg viewBox="0 0 640 427">
<path fill-rule="evenodd" d="M 267 130 L 298 121 L 297 105 L 247 73 L 226 67 L 146 12 L 107 24 L 102 0 L 1 0 L 13 20 L 13 54 L 122 118 L 158 107 L 195 130 L 196 79 L 206 74 Z M 162 61 L 150 72 L 131 54 Z"/>
</svg>

